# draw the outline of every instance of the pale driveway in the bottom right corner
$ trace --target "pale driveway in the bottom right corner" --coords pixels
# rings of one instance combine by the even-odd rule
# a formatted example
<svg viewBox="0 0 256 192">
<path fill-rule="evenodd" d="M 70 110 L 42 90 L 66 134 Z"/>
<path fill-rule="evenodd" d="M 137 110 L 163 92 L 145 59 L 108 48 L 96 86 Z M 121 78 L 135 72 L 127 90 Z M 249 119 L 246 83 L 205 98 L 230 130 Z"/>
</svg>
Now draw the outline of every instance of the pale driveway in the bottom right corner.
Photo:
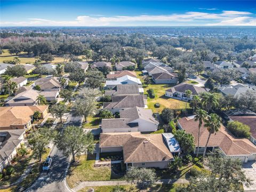
<svg viewBox="0 0 256 192">
<path fill-rule="evenodd" d="M 244 186 L 244 191 L 256 191 L 256 162 L 250 161 L 243 164 L 243 170 L 247 178 L 252 179 L 252 185 L 250 187 Z"/>
</svg>

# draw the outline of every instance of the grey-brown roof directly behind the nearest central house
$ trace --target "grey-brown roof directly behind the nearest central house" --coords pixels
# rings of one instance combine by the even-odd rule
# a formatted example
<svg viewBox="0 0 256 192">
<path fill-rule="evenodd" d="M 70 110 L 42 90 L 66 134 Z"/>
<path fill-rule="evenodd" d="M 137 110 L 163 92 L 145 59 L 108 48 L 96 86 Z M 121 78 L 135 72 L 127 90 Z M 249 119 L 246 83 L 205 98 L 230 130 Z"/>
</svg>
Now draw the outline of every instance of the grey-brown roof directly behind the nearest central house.
<svg viewBox="0 0 256 192">
<path fill-rule="evenodd" d="M 101 127 L 102 129 L 138 127 L 138 123 L 133 123 L 133 121 L 137 119 L 143 119 L 150 123 L 159 124 L 153 116 L 151 109 L 133 107 L 126 110 L 121 110 L 120 118 L 102 119 Z"/>
</svg>

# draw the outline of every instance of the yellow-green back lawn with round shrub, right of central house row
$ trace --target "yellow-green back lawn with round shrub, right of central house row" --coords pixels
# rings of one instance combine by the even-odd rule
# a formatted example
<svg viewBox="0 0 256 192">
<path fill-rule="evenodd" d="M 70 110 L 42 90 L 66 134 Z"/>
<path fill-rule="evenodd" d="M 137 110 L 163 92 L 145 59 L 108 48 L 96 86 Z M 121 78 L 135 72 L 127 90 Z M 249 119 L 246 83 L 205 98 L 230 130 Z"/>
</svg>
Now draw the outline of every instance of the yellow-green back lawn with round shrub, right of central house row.
<svg viewBox="0 0 256 192">
<path fill-rule="evenodd" d="M 155 98 L 149 98 L 147 100 L 147 106 L 149 109 L 153 110 L 153 113 L 161 113 L 161 111 L 167 107 L 171 109 L 185 109 L 186 102 L 180 101 L 173 98 L 165 97 L 165 90 L 170 89 L 171 86 L 169 84 L 150 84 L 147 87 L 144 87 L 144 93 L 147 93 L 148 89 L 153 89 L 155 93 Z M 160 103 L 159 108 L 155 108 L 155 103 Z M 187 106 L 189 108 L 189 105 Z"/>
</svg>

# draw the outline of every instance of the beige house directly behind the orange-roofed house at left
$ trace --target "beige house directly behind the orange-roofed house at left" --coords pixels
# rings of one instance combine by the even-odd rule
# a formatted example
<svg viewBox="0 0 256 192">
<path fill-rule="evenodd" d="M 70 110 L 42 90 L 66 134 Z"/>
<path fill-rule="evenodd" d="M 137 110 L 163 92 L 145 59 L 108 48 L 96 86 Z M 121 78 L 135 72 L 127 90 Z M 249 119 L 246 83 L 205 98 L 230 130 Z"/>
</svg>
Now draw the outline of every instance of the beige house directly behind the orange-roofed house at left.
<svg viewBox="0 0 256 192">
<path fill-rule="evenodd" d="M 5 106 L 33 106 L 37 105 L 37 97 L 43 95 L 46 101 L 56 101 L 59 97 L 58 91 L 36 91 L 33 89 L 22 91 L 5 103 Z"/>
</svg>

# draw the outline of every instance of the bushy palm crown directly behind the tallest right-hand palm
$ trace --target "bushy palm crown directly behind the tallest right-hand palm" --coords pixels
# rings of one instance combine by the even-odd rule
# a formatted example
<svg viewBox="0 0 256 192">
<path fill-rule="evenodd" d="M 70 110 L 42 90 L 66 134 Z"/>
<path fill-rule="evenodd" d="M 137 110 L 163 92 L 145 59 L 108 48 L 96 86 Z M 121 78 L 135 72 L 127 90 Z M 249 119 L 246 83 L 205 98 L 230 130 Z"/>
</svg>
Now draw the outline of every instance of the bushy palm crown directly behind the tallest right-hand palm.
<svg viewBox="0 0 256 192">
<path fill-rule="evenodd" d="M 201 103 L 204 109 L 209 113 L 212 108 L 219 106 L 219 98 L 216 93 L 205 92 L 201 95 Z"/>
</svg>

